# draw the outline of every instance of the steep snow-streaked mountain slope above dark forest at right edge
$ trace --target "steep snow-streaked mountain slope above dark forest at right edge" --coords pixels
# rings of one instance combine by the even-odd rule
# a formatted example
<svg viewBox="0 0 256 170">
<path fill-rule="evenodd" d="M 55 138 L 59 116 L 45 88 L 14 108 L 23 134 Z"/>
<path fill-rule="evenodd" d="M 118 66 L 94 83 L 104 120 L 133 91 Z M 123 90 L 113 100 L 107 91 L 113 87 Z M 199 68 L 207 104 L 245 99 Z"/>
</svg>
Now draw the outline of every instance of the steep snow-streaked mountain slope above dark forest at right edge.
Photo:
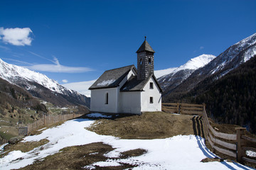
<svg viewBox="0 0 256 170">
<path fill-rule="evenodd" d="M 240 64 L 250 60 L 254 55 L 256 55 L 256 33 L 232 45 L 204 67 L 196 69 L 174 89 L 165 91 L 163 101 L 181 100 L 182 96 L 188 94 L 199 82 L 210 77 L 208 83 L 213 83 L 213 81 L 220 79 Z"/>
</svg>

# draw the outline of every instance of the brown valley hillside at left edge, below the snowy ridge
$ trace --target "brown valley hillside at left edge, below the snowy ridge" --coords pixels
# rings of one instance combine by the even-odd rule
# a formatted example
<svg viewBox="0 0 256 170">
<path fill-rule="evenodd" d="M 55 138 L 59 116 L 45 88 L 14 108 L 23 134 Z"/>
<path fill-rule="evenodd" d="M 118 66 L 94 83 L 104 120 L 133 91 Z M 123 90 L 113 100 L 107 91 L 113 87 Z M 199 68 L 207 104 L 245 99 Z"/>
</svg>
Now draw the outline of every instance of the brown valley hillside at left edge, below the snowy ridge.
<svg viewBox="0 0 256 170">
<path fill-rule="evenodd" d="M 46 89 L 46 91 L 49 90 Z M 52 98 L 56 99 L 50 91 L 44 95 L 53 95 Z M 11 137 L 18 136 L 18 124 L 28 125 L 28 123 L 42 118 L 43 114 L 89 112 L 88 108 L 75 107 L 72 103 L 69 106 L 65 104 L 65 109 L 53 103 L 42 101 L 32 96 L 26 89 L 0 78 L 0 145 L 7 142 Z"/>
</svg>

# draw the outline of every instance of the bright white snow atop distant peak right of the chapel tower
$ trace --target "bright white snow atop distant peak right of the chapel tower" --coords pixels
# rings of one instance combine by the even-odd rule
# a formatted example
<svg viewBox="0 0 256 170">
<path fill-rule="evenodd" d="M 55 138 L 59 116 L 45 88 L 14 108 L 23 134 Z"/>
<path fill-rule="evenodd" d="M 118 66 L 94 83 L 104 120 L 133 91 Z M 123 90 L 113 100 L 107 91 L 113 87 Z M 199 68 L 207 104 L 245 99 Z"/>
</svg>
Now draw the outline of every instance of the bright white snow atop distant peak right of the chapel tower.
<svg viewBox="0 0 256 170">
<path fill-rule="evenodd" d="M 206 64 L 208 64 L 213 59 L 215 59 L 214 55 L 205 55 L 205 54 L 203 54 L 203 55 L 200 55 L 198 57 L 192 58 L 191 60 L 186 62 L 186 64 L 183 64 L 180 67 L 156 70 L 156 71 L 154 71 L 154 74 L 155 74 L 156 78 L 159 78 L 159 77 L 162 77 L 166 74 L 175 74 L 176 72 L 179 72 L 179 71 L 184 70 L 184 69 L 196 70 L 200 67 L 205 66 Z"/>
</svg>

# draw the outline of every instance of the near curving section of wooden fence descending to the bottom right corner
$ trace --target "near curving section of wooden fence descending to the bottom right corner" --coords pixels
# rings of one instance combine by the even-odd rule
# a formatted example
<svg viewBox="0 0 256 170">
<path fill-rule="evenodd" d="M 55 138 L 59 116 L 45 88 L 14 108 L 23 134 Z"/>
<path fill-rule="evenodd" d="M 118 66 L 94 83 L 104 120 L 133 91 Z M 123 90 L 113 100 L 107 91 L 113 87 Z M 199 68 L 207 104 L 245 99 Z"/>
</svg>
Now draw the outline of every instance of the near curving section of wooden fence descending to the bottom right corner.
<svg viewBox="0 0 256 170">
<path fill-rule="evenodd" d="M 206 106 L 203 106 L 203 126 L 206 140 L 213 149 L 236 158 L 238 162 L 256 164 L 256 159 L 246 154 L 247 151 L 256 152 L 256 139 L 245 136 L 246 128 L 235 128 L 236 134 L 217 132 L 209 123 Z"/>
</svg>

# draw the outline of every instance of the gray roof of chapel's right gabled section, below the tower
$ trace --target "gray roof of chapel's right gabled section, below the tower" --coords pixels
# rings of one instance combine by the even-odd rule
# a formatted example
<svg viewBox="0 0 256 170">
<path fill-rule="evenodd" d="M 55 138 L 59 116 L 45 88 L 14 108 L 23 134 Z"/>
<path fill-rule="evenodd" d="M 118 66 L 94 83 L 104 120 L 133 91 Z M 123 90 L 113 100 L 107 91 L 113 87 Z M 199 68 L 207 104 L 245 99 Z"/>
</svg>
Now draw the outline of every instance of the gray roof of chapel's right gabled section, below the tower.
<svg viewBox="0 0 256 170">
<path fill-rule="evenodd" d="M 156 81 L 156 85 L 159 87 L 160 92 L 162 92 L 162 89 L 156 79 L 156 77 L 154 76 L 154 74 L 150 74 L 149 77 L 147 77 L 146 79 L 142 79 L 142 80 L 138 80 L 137 76 L 132 76 L 125 84 L 124 86 L 122 86 L 122 88 L 120 89 L 120 91 L 143 91 L 144 86 L 146 85 L 146 83 L 149 81 L 150 78 L 153 78 L 154 81 Z"/>
</svg>

